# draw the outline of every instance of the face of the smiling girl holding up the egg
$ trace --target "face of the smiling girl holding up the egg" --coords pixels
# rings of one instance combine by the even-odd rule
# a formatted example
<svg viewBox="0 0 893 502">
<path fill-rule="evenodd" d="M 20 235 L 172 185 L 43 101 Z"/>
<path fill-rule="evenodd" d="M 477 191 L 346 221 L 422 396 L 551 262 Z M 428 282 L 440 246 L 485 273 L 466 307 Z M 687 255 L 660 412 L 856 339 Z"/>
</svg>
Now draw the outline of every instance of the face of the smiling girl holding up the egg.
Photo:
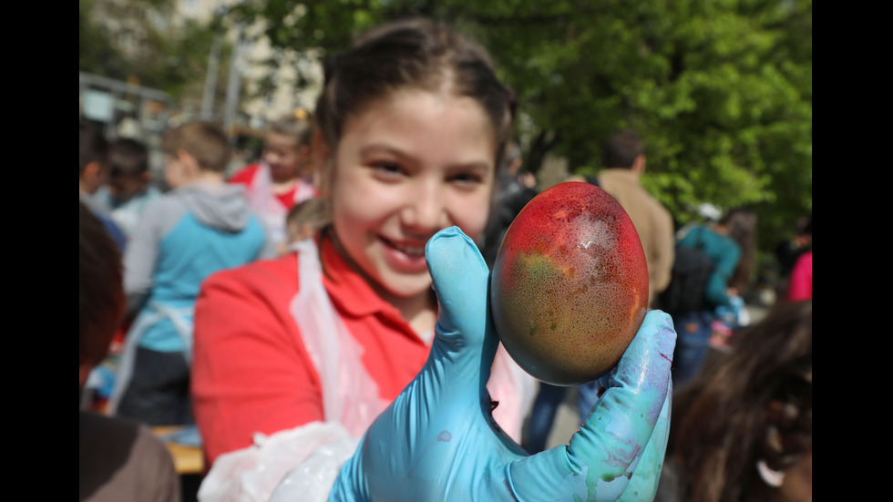
<svg viewBox="0 0 893 502">
<path fill-rule="evenodd" d="M 410 90 L 348 118 L 334 152 L 334 231 L 349 258 L 398 298 L 427 294 L 425 244 L 487 222 L 496 139 L 470 97 Z"/>
</svg>

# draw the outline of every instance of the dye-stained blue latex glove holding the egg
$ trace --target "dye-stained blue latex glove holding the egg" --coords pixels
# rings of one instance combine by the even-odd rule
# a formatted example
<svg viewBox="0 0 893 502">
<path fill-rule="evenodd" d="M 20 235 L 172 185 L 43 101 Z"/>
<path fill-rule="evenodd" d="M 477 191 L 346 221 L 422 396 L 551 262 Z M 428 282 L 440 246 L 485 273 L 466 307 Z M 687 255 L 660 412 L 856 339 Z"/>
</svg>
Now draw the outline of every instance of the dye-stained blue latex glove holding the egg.
<svg viewBox="0 0 893 502">
<path fill-rule="evenodd" d="M 670 316 L 645 316 L 570 446 L 529 456 L 490 413 L 498 337 L 487 265 L 457 227 L 428 241 L 426 259 L 440 307 L 431 353 L 366 431 L 329 499 L 652 500 L 669 430 Z"/>
</svg>

